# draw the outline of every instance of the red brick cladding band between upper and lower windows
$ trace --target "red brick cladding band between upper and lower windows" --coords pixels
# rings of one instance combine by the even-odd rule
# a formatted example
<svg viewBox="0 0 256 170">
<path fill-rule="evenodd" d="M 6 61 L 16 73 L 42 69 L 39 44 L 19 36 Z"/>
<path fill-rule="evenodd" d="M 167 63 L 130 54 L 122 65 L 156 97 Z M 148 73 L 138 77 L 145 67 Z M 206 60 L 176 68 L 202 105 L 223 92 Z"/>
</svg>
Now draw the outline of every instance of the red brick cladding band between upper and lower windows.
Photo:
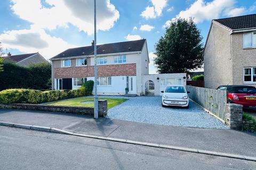
<svg viewBox="0 0 256 170">
<path fill-rule="evenodd" d="M 136 64 L 98 65 L 98 77 L 136 75 Z M 94 77 L 94 66 L 55 68 L 56 79 Z"/>
</svg>

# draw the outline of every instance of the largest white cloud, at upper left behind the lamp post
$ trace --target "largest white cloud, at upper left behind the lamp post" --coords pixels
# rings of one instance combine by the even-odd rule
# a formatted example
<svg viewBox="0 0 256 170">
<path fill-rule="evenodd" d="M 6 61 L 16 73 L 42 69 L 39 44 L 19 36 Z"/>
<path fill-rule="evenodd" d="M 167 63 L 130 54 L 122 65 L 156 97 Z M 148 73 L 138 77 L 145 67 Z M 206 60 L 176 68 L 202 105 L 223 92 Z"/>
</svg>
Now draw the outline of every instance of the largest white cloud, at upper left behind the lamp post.
<svg viewBox="0 0 256 170">
<path fill-rule="evenodd" d="M 55 29 L 58 26 L 68 27 L 73 24 L 93 34 L 93 1 L 91 0 L 45 0 L 47 8 L 41 0 L 11 0 L 11 8 L 21 19 L 35 24 L 37 27 Z M 97 29 L 109 30 L 119 19 L 119 12 L 110 0 L 97 1 Z"/>
</svg>

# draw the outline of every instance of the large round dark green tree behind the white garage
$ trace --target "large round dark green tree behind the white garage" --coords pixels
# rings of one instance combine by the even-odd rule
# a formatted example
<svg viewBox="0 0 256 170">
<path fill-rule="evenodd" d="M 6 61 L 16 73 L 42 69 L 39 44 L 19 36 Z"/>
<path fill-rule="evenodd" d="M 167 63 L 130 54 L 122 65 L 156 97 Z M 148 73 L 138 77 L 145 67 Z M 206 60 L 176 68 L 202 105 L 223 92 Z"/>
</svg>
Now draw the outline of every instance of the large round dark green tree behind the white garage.
<svg viewBox="0 0 256 170">
<path fill-rule="evenodd" d="M 203 37 L 190 18 L 171 22 L 155 45 L 154 63 L 159 73 L 189 73 L 203 64 Z"/>
</svg>

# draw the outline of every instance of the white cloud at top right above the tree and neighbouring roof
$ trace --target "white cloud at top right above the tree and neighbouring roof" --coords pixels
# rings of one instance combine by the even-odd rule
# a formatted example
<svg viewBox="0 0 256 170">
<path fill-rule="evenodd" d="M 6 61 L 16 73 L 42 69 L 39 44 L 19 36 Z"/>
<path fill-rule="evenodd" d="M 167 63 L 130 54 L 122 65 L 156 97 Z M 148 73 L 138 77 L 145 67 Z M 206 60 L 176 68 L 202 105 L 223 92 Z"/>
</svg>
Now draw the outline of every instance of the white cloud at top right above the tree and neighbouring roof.
<svg viewBox="0 0 256 170">
<path fill-rule="evenodd" d="M 180 11 L 176 18 L 189 19 L 194 18 L 196 23 L 203 22 L 204 20 L 217 19 L 227 9 L 234 9 L 236 1 L 234 0 L 213 0 L 206 2 L 205 0 L 197 0 L 185 11 Z"/>
</svg>

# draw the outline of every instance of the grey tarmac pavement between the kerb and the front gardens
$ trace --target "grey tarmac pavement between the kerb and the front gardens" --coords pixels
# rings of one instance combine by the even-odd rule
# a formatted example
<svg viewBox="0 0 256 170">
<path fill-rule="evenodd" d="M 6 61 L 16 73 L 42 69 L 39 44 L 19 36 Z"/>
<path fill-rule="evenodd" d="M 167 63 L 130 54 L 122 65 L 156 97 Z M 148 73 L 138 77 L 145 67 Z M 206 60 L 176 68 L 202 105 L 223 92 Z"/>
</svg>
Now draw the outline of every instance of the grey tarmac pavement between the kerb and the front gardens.
<svg viewBox="0 0 256 170">
<path fill-rule="evenodd" d="M 0 110 L 0 122 L 47 126 L 76 133 L 256 157 L 256 135 L 228 129 L 165 126 L 91 116 Z"/>
</svg>

